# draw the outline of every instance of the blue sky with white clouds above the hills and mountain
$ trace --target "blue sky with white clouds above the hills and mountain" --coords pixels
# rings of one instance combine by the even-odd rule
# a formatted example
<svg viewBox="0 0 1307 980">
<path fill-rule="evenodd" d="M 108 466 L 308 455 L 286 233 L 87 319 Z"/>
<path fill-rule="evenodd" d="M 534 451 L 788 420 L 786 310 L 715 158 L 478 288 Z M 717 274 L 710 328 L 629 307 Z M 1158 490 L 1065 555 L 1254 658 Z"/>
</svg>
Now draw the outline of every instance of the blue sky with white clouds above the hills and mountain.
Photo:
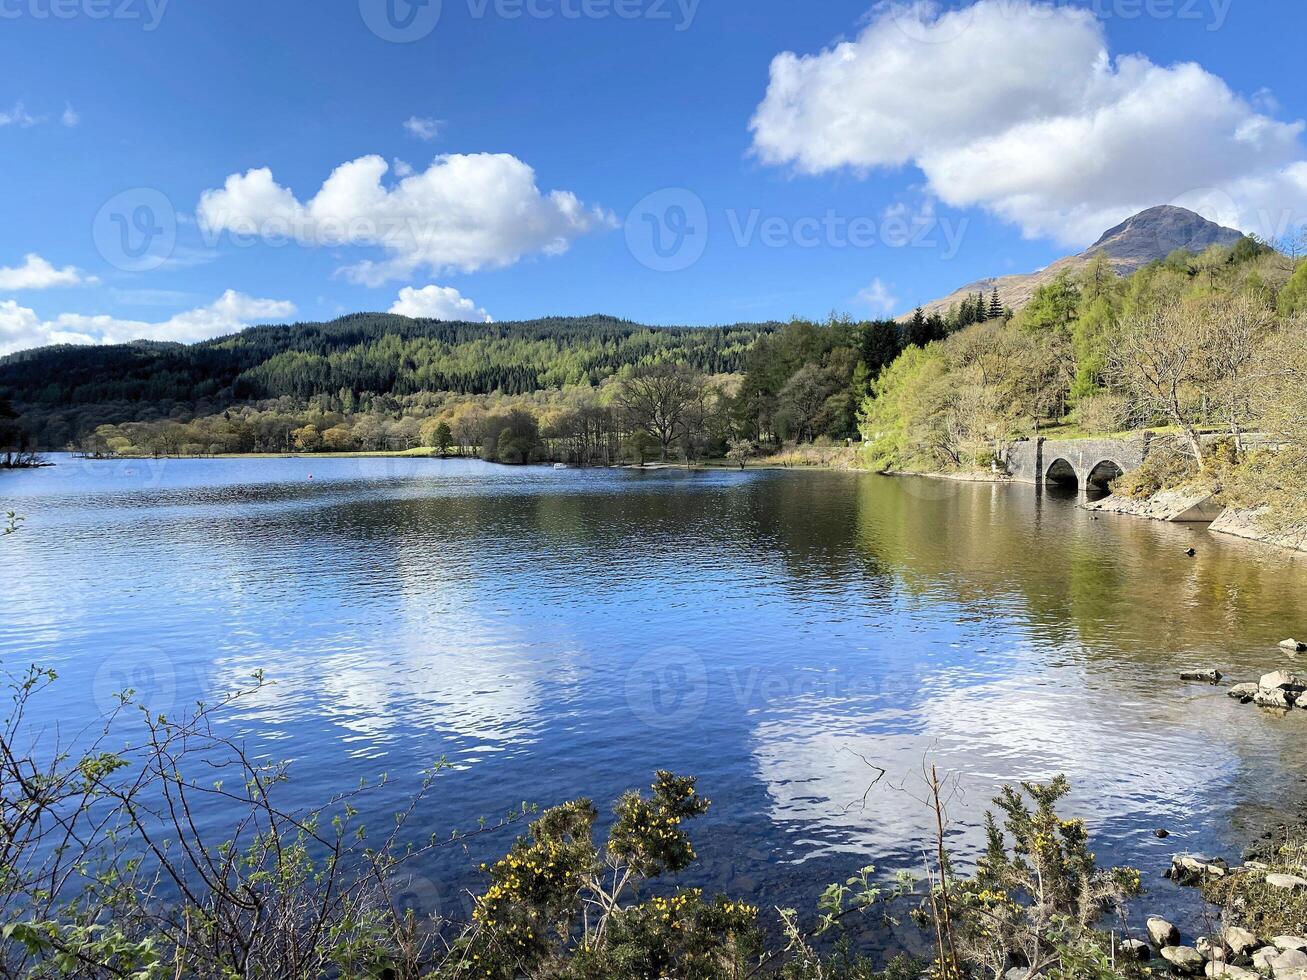
<svg viewBox="0 0 1307 980">
<path fill-rule="evenodd" d="M 1151 204 L 1273 235 L 1303 37 L 1290 0 L 0 0 L 0 351 L 872 316 Z"/>
</svg>

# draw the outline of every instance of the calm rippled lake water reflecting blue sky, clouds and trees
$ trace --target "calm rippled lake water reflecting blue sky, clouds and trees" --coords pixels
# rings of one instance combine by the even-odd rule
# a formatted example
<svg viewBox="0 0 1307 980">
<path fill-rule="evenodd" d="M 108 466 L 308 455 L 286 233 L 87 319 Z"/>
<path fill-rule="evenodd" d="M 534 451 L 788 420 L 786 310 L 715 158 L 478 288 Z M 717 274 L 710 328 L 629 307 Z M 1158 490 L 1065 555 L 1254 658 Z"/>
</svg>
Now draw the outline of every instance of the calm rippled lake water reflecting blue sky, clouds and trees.
<svg viewBox="0 0 1307 980">
<path fill-rule="evenodd" d="M 387 772 L 386 822 L 446 757 L 420 819 L 442 836 L 695 774 L 715 806 L 687 881 L 763 908 L 919 866 L 927 762 L 955 774 L 965 852 L 1004 781 L 1065 772 L 1099 857 L 1149 873 L 1236 856 L 1307 798 L 1307 712 L 1178 681 L 1291 662 L 1307 563 L 1031 487 L 63 457 L 0 474 L 4 510 L 27 520 L 0 545 L 0 660 L 59 670 L 46 721 L 125 686 L 180 711 L 264 669 L 227 724 L 294 759 L 297 804 Z M 489 855 L 421 869 L 413 900 L 454 909 Z"/>
</svg>

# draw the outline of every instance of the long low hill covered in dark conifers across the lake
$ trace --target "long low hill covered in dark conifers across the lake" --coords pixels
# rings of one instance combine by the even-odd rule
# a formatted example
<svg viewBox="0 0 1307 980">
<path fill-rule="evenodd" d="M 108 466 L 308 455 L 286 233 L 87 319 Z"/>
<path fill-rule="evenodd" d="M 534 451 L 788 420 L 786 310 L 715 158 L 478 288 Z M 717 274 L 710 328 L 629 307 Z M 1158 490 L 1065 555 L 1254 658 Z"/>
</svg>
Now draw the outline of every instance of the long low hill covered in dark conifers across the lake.
<svg viewBox="0 0 1307 980">
<path fill-rule="evenodd" d="M 105 422 L 205 414 L 277 397 L 520 395 L 599 383 L 627 365 L 738 372 L 772 324 L 644 327 L 608 316 L 446 323 L 356 314 L 252 327 L 193 345 L 58 346 L 0 359 L 0 395 L 46 448 Z"/>
</svg>

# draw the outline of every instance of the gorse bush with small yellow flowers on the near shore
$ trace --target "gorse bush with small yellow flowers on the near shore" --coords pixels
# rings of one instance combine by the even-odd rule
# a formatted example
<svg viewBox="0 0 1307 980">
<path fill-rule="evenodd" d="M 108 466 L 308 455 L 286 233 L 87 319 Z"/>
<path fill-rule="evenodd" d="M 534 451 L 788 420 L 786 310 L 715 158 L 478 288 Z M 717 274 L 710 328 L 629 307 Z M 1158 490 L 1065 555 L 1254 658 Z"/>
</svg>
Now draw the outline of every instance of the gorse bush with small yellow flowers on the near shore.
<svg viewBox="0 0 1307 980">
<path fill-rule="evenodd" d="M 682 825 L 707 811 L 695 780 L 659 772 L 626 793 L 603 851 L 589 800 L 546 810 L 494 865 L 473 924 L 439 976 L 455 980 L 736 980 L 757 963 L 758 909 L 698 890 L 639 902 L 643 885 L 694 861 Z"/>
</svg>

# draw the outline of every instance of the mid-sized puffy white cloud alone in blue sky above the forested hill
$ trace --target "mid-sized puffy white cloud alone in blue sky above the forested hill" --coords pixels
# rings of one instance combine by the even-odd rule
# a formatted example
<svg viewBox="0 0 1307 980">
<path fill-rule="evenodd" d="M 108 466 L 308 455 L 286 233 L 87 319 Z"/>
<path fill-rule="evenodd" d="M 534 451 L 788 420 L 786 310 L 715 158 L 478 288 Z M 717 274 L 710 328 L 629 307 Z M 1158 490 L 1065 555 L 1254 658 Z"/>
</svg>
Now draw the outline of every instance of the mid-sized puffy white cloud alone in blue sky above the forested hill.
<svg viewBox="0 0 1307 980">
<path fill-rule="evenodd" d="M 567 191 L 541 193 L 535 171 L 510 154 L 438 157 L 427 170 L 383 184 L 388 170 L 375 155 L 342 163 L 305 203 L 268 169 L 233 174 L 222 189 L 201 196 L 200 223 L 209 235 L 379 247 L 386 260 L 344 269 L 367 285 L 418 268 L 474 272 L 559 255 L 579 235 L 617 223 Z"/>
</svg>

